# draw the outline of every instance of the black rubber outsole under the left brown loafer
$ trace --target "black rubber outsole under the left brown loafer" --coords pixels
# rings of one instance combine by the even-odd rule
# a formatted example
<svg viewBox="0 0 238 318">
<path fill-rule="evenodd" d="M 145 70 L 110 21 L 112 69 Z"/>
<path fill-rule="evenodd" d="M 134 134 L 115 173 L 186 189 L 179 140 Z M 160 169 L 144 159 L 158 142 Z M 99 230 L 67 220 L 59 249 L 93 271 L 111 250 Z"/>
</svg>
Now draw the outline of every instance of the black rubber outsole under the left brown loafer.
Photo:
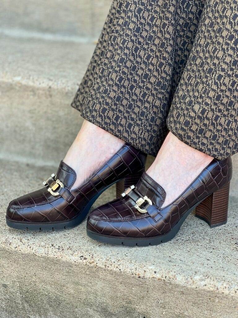
<svg viewBox="0 0 238 318">
<path fill-rule="evenodd" d="M 118 182 L 118 181 L 116 181 Z M 114 182 L 114 183 L 116 183 Z M 107 190 L 110 186 L 112 186 L 114 183 L 107 186 L 105 189 L 100 191 L 96 196 L 94 196 L 89 203 L 85 206 L 83 211 L 78 214 L 75 218 L 72 218 L 67 221 L 61 221 L 61 222 L 18 222 L 18 221 L 12 221 L 6 217 L 6 223 L 9 227 L 17 230 L 28 230 L 28 231 L 37 231 L 37 232 L 45 232 L 45 231 L 62 231 L 66 229 L 71 229 L 77 225 L 79 225 L 88 215 L 89 210 L 91 209 L 92 205 L 96 201 L 96 199 Z"/>
</svg>

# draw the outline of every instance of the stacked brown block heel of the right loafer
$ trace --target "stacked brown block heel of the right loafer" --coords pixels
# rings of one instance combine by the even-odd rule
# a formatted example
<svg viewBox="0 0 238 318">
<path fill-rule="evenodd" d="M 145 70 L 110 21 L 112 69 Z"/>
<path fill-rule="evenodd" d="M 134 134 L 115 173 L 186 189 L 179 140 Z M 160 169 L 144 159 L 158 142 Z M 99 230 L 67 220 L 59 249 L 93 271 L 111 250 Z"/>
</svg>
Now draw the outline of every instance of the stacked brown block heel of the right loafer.
<svg viewBox="0 0 238 318">
<path fill-rule="evenodd" d="M 195 216 L 202 218 L 210 227 L 227 223 L 230 183 L 203 200 L 195 210 Z"/>
</svg>

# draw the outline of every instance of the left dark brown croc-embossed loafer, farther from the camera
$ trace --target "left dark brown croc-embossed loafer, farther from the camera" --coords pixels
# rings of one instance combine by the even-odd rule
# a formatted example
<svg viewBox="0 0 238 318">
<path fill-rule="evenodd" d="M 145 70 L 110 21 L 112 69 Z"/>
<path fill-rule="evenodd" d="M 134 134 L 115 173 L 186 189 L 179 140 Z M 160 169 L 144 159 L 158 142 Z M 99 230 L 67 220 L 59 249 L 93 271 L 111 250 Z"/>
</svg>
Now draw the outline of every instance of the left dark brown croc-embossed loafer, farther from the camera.
<svg viewBox="0 0 238 318">
<path fill-rule="evenodd" d="M 100 194 L 112 184 L 125 178 L 125 185 L 140 179 L 146 155 L 125 144 L 85 183 L 70 190 L 76 172 L 61 161 L 55 175 L 43 183 L 43 189 L 10 202 L 7 225 L 15 229 L 36 231 L 62 230 L 78 225 Z"/>
</svg>

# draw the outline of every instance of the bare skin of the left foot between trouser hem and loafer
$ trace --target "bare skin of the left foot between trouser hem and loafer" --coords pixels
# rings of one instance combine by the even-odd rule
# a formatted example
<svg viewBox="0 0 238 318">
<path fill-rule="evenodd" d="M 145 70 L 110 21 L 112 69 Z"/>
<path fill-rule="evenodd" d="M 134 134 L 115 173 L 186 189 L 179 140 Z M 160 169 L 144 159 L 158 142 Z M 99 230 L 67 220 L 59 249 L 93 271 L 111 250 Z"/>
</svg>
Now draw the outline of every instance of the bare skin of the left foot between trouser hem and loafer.
<svg viewBox="0 0 238 318">
<path fill-rule="evenodd" d="M 92 176 L 124 144 L 121 139 L 85 120 L 63 160 L 77 174 L 72 189 L 76 189 Z"/>
</svg>

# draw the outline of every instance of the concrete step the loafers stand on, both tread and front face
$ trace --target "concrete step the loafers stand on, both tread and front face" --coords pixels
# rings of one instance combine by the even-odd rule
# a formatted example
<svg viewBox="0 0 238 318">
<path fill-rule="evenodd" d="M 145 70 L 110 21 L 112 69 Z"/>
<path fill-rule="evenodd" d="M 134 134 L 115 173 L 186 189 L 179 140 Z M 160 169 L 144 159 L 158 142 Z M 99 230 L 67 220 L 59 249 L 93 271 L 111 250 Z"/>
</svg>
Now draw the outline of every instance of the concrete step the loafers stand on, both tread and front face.
<svg viewBox="0 0 238 318">
<path fill-rule="evenodd" d="M 85 222 L 63 232 L 5 225 L 8 202 L 54 171 L 0 162 L 1 318 L 237 317 L 237 173 L 227 225 L 210 229 L 190 215 L 172 241 L 130 248 L 90 240 Z M 112 187 L 94 207 L 114 195 Z"/>
</svg>

